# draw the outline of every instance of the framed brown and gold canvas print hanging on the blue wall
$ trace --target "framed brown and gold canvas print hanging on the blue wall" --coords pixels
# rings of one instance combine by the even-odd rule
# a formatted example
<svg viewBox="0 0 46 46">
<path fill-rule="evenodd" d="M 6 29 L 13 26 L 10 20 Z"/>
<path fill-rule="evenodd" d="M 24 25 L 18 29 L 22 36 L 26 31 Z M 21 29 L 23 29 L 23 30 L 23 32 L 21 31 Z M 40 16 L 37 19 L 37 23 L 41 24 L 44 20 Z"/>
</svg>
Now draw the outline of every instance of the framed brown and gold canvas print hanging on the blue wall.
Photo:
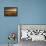
<svg viewBox="0 0 46 46">
<path fill-rule="evenodd" d="M 4 7 L 4 16 L 18 16 L 18 8 Z"/>
</svg>

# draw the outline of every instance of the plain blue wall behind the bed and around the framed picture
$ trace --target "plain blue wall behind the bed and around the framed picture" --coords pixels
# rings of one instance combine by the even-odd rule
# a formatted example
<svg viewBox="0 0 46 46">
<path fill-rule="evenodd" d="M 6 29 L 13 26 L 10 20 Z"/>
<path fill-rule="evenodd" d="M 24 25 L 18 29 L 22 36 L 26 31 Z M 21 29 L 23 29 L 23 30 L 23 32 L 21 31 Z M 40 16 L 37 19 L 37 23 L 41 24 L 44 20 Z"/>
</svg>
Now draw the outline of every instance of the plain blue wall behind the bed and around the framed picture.
<svg viewBox="0 0 46 46">
<path fill-rule="evenodd" d="M 4 16 L 4 7 L 8 6 L 18 7 L 17 17 Z M 18 32 L 17 24 L 46 24 L 46 0 L 1 0 L 0 44 L 8 43 L 9 32 Z"/>
</svg>

